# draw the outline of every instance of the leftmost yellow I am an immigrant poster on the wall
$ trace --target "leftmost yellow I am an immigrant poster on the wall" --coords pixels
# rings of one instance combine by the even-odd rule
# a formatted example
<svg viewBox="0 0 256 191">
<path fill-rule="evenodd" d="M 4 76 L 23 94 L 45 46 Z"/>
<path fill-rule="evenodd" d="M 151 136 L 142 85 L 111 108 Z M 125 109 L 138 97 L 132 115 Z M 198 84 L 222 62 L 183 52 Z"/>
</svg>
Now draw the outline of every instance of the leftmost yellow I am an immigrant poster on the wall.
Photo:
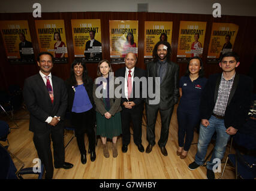
<svg viewBox="0 0 256 191">
<path fill-rule="evenodd" d="M 12 64 L 35 63 L 27 20 L 0 21 L 5 53 Z"/>
</svg>

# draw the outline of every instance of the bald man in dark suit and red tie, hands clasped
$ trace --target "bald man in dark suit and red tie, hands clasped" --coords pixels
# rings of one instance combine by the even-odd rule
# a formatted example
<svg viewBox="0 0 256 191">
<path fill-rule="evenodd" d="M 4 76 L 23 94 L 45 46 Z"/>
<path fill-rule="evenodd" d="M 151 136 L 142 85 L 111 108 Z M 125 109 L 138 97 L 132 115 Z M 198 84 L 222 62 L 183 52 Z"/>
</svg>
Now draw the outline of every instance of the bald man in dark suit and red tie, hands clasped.
<svg viewBox="0 0 256 191">
<path fill-rule="evenodd" d="M 144 99 L 142 98 L 142 84 L 138 85 L 137 89 L 135 83 L 137 79 L 145 77 L 145 70 L 135 67 L 137 59 L 134 53 L 128 53 L 125 56 L 125 66 L 116 71 L 116 77 L 124 77 L 125 82 L 122 84 L 122 99 L 121 99 L 121 118 L 122 118 L 122 152 L 126 153 L 128 150 L 128 144 L 131 139 L 131 133 L 129 131 L 129 124 L 133 124 L 133 140 L 137 145 L 140 152 L 144 152 L 144 147 L 141 144 L 141 123 L 144 110 Z M 145 78 L 146 79 L 146 78 Z M 146 82 L 146 81 L 145 81 Z M 131 84 L 130 84 L 131 83 Z M 129 86 L 131 85 L 131 88 Z M 129 94 L 131 92 L 133 94 Z M 140 95 L 137 97 L 135 91 L 140 91 Z"/>
</svg>

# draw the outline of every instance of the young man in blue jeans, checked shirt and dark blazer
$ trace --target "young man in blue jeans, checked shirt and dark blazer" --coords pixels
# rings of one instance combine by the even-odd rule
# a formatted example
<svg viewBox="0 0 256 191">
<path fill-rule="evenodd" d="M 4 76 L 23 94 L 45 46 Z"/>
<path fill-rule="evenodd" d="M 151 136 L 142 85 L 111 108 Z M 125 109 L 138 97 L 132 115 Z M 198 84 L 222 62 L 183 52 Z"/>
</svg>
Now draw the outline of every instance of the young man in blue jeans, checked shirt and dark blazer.
<svg viewBox="0 0 256 191">
<path fill-rule="evenodd" d="M 207 178 L 214 179 L 216 161 L 221 161 L 230 138 L 242 128 L 249 111 L 252 79 L 239 75 L 240 64 L 236 53 L 223 54 L 219 67 L 222 73 L 209 76 L 201 97 L 201 125 L 195 161 L 189 170 L 204 164 L 207 147 L 216 131 L 216 144 L 212 158 L 206 164 Z"/>
</svg>

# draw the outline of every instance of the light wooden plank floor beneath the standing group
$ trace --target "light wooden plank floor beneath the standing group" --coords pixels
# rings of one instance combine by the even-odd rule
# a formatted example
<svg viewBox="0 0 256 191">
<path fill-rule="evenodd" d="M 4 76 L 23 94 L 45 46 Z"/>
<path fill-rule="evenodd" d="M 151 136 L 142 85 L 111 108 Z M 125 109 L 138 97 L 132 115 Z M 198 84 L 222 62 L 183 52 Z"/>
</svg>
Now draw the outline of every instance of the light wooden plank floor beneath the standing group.
<svg viewBox="0 0 256 191">
<path fill-rule="evenodd" d="M 113 158 L 112 150 L 110 150 L 110 158 L 103 156 L 102 143 L 100 138 L 96 147 L 97 158 L 94 162 L 91 162 L 90 155 L 87 155 L 87 163 L 83 165 L 80 161 L 80 152 L 77 146 L 76 138 L 70 142 L 65 149 L 65 161 L 74 164 L 74 167 L 70 170 L 55 169 L 53 178 L 62 179 L 206 179 L 206 167 L 199 167 L 197 170 L 190 171 L 188 165 L 194 161 L 195 153 L 197 151 L 197 144 L 192 144 L 191 149 L 188 152 L 188 156 L 185 159 L 180 159 L 176 155 L 177 150 L 177 105 L 174 108 L 173 116 L 171 118 L 170 131 L 168 135 L 168 141 L 166 149 L 168 156 L 163 156 L 157 144 L 153 147 L 151 153 L 141 153 L 138 151 L 137 146 L 133 142 L 131 136 L 131 143 L 128 146 L 128 152 L 122 153 L 122 137 L 118 138 L 118 157 Z M 16 118 L 20 115 L 26 114 L 24 110 L 20 110 L 15 113 Z M 28 116 L 23 116 L 28 118 Z M 1 119 L 7 120 L 8 118 L 1 115 Z M 11 129 L 11 133 L 8 135 L 10 142 L 9 150 L 16 155 L 26 167 L 33 167 L 33 159 L 38 158 L 37 151 L 35 150 L 34 143 L 32 141 L 33 133 L 28 130 L 29 120 L 20 119 L 16 120 L 19 125 L 19 129 Z M 8 121 L 11 128 L 15 127 L 13 122 Z M 146 122 L 143 119 L 143 124 Z M 161 118 L 158 114 L 156 121 L 156 143 L 159 140 L 161 127 Z M 66 131 L 67 136 L 64 137 L 64 143 L 67 144 L 68 140 L 73 135 L 73 131 Z M 131 130 L 132 133 L 132 130 Z M 197 143 L 198 134 L 194 133 L 194 140 L 192 143 Z M 2 142 L 1 142 L 2 143 Z M 86 148 L 88 148 L 88 138 L 85 136 Z M 111 143 L 107 143 L 110 145 Z M 142 127 L 142 144 L 146 150 L 146 127 Z M 212 150 L 212 144 L 210 144 L 208 152 Z M 223 159 L 225 161 L 228 153 Z M 14 160 L 16 167 L 20 167 L 20 163 Z M 222 168 L 224 164 L 222 164 Z M 219 178 L 221 173 L 215 173 L 215 178 Z M 37 175 L 23 175 L 23 178 L 37 178 Z M 222 179 L 234 179 L 234 169 L 228 166 L 225 170 L 225 174 Z"/>
</svg>

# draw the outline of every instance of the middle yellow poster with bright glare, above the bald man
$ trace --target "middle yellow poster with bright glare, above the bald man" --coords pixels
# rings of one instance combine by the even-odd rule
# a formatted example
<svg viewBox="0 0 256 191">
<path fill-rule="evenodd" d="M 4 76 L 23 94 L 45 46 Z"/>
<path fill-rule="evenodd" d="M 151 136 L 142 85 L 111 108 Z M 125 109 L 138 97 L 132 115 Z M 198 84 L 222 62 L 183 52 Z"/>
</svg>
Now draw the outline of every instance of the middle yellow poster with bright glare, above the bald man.
<svg viewBox="0 0 256 191">
<path fill-rule="evenodd" d="M 127 53 L 138 54 L 138 21 L 110 20 L 110 61 L 114 64 L 125 63 Z"/>
</svg>

